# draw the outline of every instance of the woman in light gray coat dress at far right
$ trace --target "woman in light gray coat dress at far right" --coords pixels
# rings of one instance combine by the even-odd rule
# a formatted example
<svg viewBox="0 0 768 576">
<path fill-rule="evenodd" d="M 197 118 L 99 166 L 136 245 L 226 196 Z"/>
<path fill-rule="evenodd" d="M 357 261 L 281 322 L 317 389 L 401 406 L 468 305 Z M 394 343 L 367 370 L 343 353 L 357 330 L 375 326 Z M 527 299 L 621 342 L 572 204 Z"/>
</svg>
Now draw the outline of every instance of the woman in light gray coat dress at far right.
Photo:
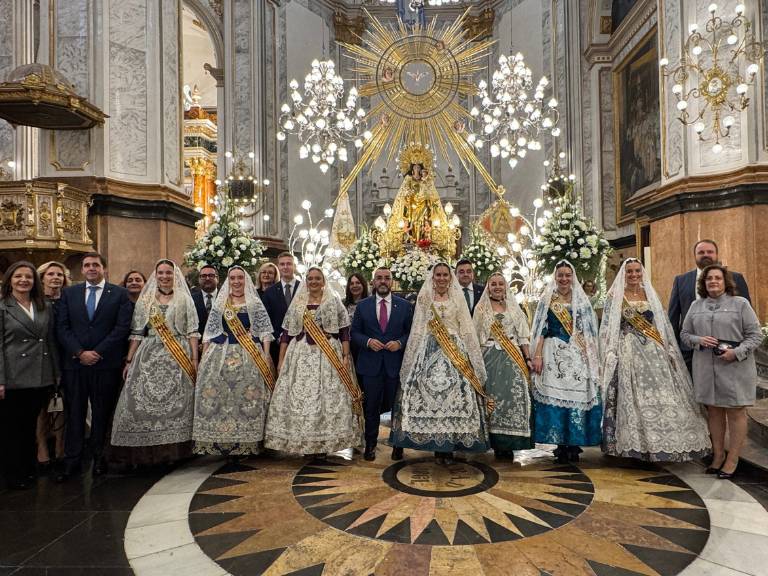
<svg viewBox="0 0 768 576">
<path fill-rule="evenodd" d="M 683 322 L 681 340 L 693 352 L 696 401 L 707 406 L 712 436 L 708 474 L 730 479 L 736 474 L 739 452 L 747 436 L 747 406 L 755 403 L 757 367 L 754 350 L 760 345 L 760 322 L 749 302 L 735 295 L 728 270 L 707 266 L 698 280 L 700 300 Z M 725 431 L 729 451 L 725 452 Z"/>
</svg>

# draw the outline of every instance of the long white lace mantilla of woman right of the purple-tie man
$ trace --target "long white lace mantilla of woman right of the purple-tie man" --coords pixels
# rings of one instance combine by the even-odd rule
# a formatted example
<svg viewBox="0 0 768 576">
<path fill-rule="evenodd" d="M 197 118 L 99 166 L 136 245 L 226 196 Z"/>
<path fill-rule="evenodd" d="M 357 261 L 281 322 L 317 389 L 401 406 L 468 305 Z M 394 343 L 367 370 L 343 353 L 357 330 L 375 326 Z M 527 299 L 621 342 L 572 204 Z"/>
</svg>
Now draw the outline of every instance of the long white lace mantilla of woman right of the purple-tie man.
<svg viewBox="0 0 768 576">
<path fill-rule="evenodd" d="M 432 267 L 434 273 L 435 267 Z M 475 332 L 475 325 L 472 323 L 472 316 L 469 313 L 467 302 L 464 300 L 464 294 L 461 291 L 461 284 L 450 270 L 451 280 L 448 288 L 448 296 L 458 311 L 459 337 L 464 342 L 469 361 L 480 382 L 485 382 L 485 362 L 480 350 L 480 343 Z M 432 304 L 434 302 L 434 284 L 432 278 L 428 278 L 416 299 L 416 309 L 413 314 L 411 324 L 411 334 L 408 337 L 408 345 L 405 347 L 403 355 L 403 364 L 400 368 L 400 379 L 405 382 L 413 369 L 419 351 L 426 345 L 429 327 L 427 323 L 432 319 Z"/>
</svg>

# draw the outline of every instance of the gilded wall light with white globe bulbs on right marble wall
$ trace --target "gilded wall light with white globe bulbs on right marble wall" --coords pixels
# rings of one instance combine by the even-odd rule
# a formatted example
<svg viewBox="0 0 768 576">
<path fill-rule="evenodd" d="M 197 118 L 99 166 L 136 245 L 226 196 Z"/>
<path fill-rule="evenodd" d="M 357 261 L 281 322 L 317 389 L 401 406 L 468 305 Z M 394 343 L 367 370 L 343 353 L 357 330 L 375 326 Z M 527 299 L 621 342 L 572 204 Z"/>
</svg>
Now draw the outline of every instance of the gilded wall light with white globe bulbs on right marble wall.
<svg viewBox="0 0 768 576">
<path fill-rule="evenodd" d="M 736 122 L 733 114 L 749 106 L 747 91 L 754 85 L 765 55 L 763 45 L 755 39 L 752 22 L 744 16 L 744 4 L 736 6 L 730 22 L 717 10 L 717 4 L 709 5 L 703 32 L 696 23 L 689 26 L 676 67 L 670 69 L 666 57 L 659 60 L 664 76 L 674 81 L 678 119 L 686 126 L 693 125 L 700 141 L 714 139 L 715 154 L 723 151 L 720 140 L 730 134 Z M 694 102 L 695 115 L 689 112 Z"/>
</svg>

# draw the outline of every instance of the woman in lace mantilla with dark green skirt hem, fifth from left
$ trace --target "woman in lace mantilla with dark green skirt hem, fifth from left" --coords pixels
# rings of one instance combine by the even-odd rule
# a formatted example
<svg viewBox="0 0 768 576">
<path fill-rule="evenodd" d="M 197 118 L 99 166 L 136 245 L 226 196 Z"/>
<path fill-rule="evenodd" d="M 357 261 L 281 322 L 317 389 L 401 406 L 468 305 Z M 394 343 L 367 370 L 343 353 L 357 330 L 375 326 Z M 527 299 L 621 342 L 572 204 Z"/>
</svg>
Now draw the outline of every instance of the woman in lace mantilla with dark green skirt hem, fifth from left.
<svg viewBox="0 0 768 576">
<path fill-rule="evenodd" d="M 488 417 L 491 448 L 496 458 L 514 459 L 514 450 L 533 448 L 531 391 L 528 384 L 530 328 L 504 275 L 488 278 L 473 316 L 483 349 L 488 379 L 485 389 L 495 401 Z M 495 329 L 501 327 L 506 341 Z M 511 345 L 513 355 L 505 349 Z"/>
</svg>

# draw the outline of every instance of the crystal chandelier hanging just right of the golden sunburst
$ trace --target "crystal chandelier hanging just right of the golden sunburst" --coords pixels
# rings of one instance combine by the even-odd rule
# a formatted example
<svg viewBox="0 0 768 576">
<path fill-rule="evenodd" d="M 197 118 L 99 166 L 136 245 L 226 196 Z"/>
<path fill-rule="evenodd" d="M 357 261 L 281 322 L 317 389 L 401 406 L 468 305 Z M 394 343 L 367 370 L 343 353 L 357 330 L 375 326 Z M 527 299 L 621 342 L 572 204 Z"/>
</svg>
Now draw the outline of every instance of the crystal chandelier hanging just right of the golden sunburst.
<svg viewBox="0 0 768 576">
<path fill-rule="evenodd" d="M 549 85 L 542 76 L 534 88 L 533 73 L 525 65 L 523 55 L 501 55 L 499 68 L 493 72 L 489 88 L 485 80 L 478 84 L 480 108 L 470 111 L 482 124 L 479 134 L 470 133 L 467 141 L 475 148 L 491 143 L 491 156 L 508 159 L 514 168 L 529 150 L 541 150 L 539 137 L 543 131 L 560 135 L 557 127 L 557 100 L 544 103 L 544 90 Z M 532 95 L 531 95 L 532 93 Z"/>
</svg>

